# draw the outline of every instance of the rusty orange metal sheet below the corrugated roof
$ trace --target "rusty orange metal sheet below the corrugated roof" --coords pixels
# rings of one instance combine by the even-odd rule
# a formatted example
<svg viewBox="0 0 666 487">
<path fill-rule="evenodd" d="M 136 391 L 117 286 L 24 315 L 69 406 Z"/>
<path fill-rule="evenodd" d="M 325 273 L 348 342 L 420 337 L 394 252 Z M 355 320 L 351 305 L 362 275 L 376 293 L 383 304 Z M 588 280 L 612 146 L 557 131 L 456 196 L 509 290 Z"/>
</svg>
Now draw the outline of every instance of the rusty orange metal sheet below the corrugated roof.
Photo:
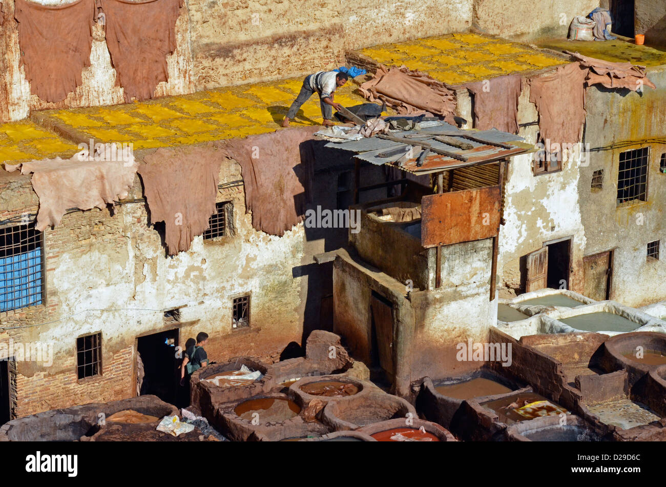
<svg viewBox="0 0 666 487">
<path fill-rule="evenodd" d="M 424 196 L 421 244 L 428 248 L 488 239 L 500 228 L 500 186 Z"/>
</svg>

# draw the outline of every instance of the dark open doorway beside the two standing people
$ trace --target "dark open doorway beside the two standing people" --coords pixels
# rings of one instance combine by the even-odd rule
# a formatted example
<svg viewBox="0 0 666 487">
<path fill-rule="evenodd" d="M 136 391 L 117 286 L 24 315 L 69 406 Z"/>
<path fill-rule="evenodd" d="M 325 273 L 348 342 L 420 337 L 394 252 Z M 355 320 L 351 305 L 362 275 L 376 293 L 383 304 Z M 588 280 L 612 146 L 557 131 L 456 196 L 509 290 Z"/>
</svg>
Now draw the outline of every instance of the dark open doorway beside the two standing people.
<svg viewBox="0 0 666 487">
<path fill-rule="evenodd" d="M 176 358 L 177 346 L 177 328 L 137 338 L 137 351 L 141 356 L 144 370 L 141 396 L 154 394 L 170 404 L 180 402 L 178 366 L 181 360 Z"/>
</svg>

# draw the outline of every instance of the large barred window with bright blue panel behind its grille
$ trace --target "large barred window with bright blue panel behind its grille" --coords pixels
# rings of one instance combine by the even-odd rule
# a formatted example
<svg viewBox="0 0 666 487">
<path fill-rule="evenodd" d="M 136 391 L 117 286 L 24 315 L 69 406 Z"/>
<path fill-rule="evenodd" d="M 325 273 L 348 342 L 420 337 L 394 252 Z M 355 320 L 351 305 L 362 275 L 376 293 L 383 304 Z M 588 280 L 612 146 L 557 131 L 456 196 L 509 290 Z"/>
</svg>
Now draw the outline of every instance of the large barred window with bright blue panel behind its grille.
<svg viewBox="0 0 666 487">
<path fill-rule="evenodd" d="M 43 240 L 35 224 L 0 229 L 0 312 L 41 304 Z"/>
</svg>

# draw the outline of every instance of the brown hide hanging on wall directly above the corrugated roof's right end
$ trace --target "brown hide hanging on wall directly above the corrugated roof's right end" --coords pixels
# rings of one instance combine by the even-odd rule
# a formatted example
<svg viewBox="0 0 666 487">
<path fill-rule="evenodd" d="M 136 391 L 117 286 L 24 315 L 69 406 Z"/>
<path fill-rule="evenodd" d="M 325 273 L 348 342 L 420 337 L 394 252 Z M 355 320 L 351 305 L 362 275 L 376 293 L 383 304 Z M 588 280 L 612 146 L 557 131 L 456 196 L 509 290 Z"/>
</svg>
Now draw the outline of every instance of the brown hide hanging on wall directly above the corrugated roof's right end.
<svg viewBox="0 0 666 487">
<path fill-rule="evenodd" d="M 503 132 L 518 133 L 521 81 L 519 75 L 511 75 L 465 85 L 474 95 L 475 129 L 495 128 Z"/>
</svg>

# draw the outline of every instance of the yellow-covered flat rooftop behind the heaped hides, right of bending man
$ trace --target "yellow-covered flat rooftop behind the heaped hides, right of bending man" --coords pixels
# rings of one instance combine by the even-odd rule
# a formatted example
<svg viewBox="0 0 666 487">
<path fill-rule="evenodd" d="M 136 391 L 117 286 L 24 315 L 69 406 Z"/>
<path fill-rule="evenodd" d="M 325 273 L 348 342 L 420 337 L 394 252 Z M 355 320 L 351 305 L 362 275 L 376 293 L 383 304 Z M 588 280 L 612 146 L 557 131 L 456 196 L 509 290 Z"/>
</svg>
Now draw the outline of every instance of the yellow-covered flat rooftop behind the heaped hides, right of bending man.
<svg viewBox="0 0 666 487">
<path fill-rule="evenodd" d="M 384 44 L 355 53 L 375 63 L 418 69 L 449 85 L 531 73 L 569 62 L 525 44 L 476 33 Z"/>
</svg>

